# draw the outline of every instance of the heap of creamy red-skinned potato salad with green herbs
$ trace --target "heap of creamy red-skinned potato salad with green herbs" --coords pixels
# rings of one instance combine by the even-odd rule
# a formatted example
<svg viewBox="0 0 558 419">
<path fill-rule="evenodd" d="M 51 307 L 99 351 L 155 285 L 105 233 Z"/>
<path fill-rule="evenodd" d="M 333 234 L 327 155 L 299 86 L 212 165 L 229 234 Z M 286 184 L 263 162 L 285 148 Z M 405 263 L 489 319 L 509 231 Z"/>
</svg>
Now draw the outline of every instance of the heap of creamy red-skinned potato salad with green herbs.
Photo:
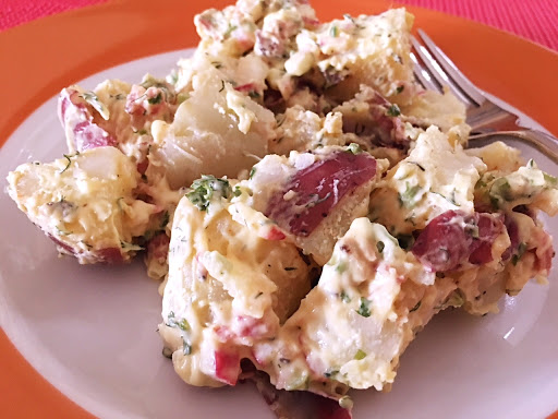
<svg viewBox="0 0 558 419">
<path fill-rule="evenodd" d="M 189 384 L 255 381 L 278 417 L 349 418 L 389 390 L 446 308 L 497 311 L 546 280 L 557 179 L 415 83 L 413 16 L 319 22 L 305 0 L 195 17 L 166 79 L 60 93 L 68 151 L 9 193 L 78 263 L 144 258 L 161 279 L 163 355 Z M 300 394 L 300 392 L 299 392 Z"/>
</svg>

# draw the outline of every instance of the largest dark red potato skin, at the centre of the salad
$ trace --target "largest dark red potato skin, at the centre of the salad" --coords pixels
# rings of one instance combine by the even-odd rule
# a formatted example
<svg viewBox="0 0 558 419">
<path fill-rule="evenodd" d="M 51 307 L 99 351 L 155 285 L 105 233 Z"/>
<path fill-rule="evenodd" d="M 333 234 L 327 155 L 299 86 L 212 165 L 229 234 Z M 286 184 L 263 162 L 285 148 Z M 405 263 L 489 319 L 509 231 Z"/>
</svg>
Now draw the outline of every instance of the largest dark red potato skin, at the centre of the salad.
<svg viewBox="0 0 558 419">
<path fill-rule="evenodd" d="M 280 228 L 310 236 L 339 201 L 376 175 L 376 160 L 368 154 L 338 152 L 300 170 L 283 190 L 274 194 L 265 212 Z M 293 191 L 294 197 L 286 200 Z"/>
</svg>

